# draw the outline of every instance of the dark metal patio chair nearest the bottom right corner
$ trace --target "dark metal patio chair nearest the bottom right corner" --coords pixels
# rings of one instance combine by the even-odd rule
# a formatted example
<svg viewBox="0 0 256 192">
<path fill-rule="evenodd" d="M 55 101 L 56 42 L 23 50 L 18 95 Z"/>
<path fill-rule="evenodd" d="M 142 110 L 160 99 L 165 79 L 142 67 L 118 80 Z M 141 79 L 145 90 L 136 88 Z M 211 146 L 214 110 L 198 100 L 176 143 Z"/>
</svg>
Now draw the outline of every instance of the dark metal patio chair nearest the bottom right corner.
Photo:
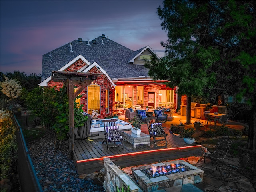
<svg viewBox="0 0 256 192">
<path fill-rule="evenodd" d="M 245 174 L 246 166 L 248 165 L 248 162 L 250 160 L 250 156 L 247 152 L 244 152 L 237 164 L 237 166 L 228 164 L 226 166 L 223 166 L 223 163 L 219 167 L 220 171 L 220 177 L 224 181 L 224 186 L 226 188 L 226 184 L 228 182 L 241 182 L 240 178 Z M 236 185 L 232 185 L 236 186 Z M 230 186 L 226 189 L 230 190 Z M 234 191 L 234 189 L 231 189 Z"/>
</svg>

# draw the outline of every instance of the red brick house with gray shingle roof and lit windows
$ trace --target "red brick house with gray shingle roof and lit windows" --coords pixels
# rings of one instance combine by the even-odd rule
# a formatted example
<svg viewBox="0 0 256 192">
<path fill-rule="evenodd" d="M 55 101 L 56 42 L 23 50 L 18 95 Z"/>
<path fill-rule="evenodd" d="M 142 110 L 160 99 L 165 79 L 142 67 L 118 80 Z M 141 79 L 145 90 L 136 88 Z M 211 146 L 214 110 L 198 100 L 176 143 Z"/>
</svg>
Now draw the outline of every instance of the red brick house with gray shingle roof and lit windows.
<svg viewBox="0 0 256 192">
<path fill-rule="evenodd" d="M 63 86 L 52 80 L 52 71 L 98 73 L 78 101 L 89 114 L 104 118 L 123 114 L 125 108 L 135 105 L 177 109 L 176 90 L 168 88 L 164 80 L 154 81 L 148 76 L 144 64 L 152 54 L 156 53 L 150 46 L 133 51 L 104 34 L 92 41 L 78 38 L 43 55 L 40 86 Z"/>
</svg>

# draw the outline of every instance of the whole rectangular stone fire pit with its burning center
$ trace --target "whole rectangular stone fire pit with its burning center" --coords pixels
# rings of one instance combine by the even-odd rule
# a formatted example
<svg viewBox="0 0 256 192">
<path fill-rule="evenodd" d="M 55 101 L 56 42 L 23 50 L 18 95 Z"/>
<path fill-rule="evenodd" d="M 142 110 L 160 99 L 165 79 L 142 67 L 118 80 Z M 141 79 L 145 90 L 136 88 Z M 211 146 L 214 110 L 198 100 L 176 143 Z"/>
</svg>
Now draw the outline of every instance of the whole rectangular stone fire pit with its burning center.
<svg viewBox="0 0 256 192">
<path fill-rule="evenodd" d="M 173 166 L 174 170 L 171 170 L 170 166 Z M 168 173 L 165 172 L 167 168 Z M 157 170 L 154 176 L 152 169 Z M 200 183 L 203 181 L 204 171 L 184 160 L 175 160 L 132 168 L 132 174 L 144 192 L 151 192 L 177 185 Z"/>
</svg>

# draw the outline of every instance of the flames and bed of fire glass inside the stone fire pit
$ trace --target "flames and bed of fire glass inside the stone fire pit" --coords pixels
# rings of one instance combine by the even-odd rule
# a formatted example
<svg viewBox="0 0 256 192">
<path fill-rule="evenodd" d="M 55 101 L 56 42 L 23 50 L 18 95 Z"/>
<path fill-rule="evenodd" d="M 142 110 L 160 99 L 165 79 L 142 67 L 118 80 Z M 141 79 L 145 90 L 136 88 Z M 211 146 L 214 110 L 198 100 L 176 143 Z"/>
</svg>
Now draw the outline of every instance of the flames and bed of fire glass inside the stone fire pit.
<svg viewBox="0 0 256 192">
<path fill-rule="evenodd" d="M 188 167 L 186 167 L 184 164 L 181 163 L 177 163 L 177 164 L 170 164 L 170 165 L 166 165 L 166 166 L 153 166 L 151 165 L 151 168 L 149 168 L 148 170 L 146 170 L 146 173 L 148 174 L 148 176 L 154 178 L 154 177 L 158 177 L 161 175 L 169 175 L 169 174 L 173 174 L 176 172 L 184 172 L 189 170 Z"/>
</svg>

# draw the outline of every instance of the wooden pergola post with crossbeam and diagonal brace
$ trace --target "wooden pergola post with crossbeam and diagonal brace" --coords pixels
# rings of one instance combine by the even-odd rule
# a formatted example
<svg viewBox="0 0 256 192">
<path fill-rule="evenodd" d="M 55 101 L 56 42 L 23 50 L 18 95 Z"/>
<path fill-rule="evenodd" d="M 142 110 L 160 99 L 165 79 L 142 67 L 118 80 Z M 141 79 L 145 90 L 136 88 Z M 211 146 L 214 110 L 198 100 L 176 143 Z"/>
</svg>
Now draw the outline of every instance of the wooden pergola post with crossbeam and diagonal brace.
<svg viewBox="0 0 256 192">
<path fill-rule="evenodd" d="M 69 159 L 73 158 L 74 150 L 74 100 L 84 90 L 84 88 L 92 83 L 98 75 L 95 73 L 81 72 L 64 72 L 52 71 L 52 80 L 54 82 L 64 82 L 67 87 L 68 104 L 69 104 Z M 74 93 L 74 86 L 80 85 L 80 88 Z"/>
</svg>

